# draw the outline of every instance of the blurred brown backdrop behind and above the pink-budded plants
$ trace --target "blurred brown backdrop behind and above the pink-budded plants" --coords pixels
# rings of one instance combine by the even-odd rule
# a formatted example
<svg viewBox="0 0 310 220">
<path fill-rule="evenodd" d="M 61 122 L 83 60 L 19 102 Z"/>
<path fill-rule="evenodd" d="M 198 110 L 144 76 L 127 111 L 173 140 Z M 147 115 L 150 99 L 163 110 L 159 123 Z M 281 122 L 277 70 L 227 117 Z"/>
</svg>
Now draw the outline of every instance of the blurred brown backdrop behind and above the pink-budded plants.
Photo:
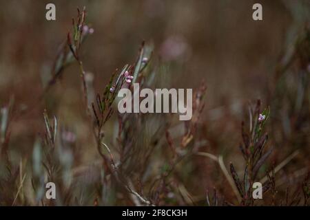
<svg viewBox="0 0 310 220">
<path fill-rule="evenodd" d="M 47 3 L 56 5 L 56 21 L 45 20 Z M 31 157 L 34 142 L 44 127 L 43 109 L 56 115 L 61 126 L 74 131 L 83 163 L 91 163 L 98 157 L 91 131 L 87 129 L 77 65 L 68 67 L 61 80 L 40 100 L 42 79 L 50 74 L 57 48 L 71 30 L 76 8 L 85 5 L 87 23 L 94 28 L 94 34 L 83 44 L 81 54 L 85 70 L 94 78 L 94 89 L 103 91 L 114 69 L 134 63 L 141 41 L 153 44 L 153 58 L 165 65 L 163 80 L 167 80 L 169 87 L 196 88 L 205 80 L 206 105 L 200 128 L 207 140 L 205 148 L 226 155 L 227 163 L 238 164 L 242 158 L 238 152 L 240 122 L 246 117 L 247 103 L 260 98 L 262 106 L 271 106 L 272 110 L 272 103 L 286 100 L 272 95 L 277 83 L 276 69 L 310 21 L 309 1 L 261 0 L 262 21 L 252 19 L 254 3 L 251 0 L 0 1 L 0 104 L 7 104 L 14 96 L 15 115 L 10 124 L 12 157 L 17 160 Z M 294 79 L 286 82 L 289 88 L 297 85 Z M 294 98 L 288 98 L 291 99 Z M 273 155 L 273 162 L 280 162 L 302 145 L 304 151 L 293 168 L 307 167 L 309 99 L 302 102 L 305 124 L 302 131 L 294 133 L 297 137 L 291 137 L 293 130 L 280 129 L 280 126 L 292 129 L 292 125 L 285 125 L 287 120 L 277 115 L 288 111 L 292 115 L 292 111 L 286 102 L 277 103 L 280 104 L 275 106 L 280 105 L 278 109 L 282 110 L 273 112 L 273 128 L 270 126 L 269 130 L 273 135 L 271 143 L 281 153 Z M 293 123 L 289 113 L 283 117 L 288 118 L 287 123 Z M 109 133 L 114 127 L 111 122 L 105 131 Z M 187 173 L 187 178 L 200 179 L 189 188 L 194 195 L 204 190 L 198 193 L 194 186 L 216 186 L 214 181 L 210 183 L 210 175 L 218 182 L 224 179 L 216 175 L 220 171 L 215 165 L 201 160 L 200 168 Z"/>
</svg>

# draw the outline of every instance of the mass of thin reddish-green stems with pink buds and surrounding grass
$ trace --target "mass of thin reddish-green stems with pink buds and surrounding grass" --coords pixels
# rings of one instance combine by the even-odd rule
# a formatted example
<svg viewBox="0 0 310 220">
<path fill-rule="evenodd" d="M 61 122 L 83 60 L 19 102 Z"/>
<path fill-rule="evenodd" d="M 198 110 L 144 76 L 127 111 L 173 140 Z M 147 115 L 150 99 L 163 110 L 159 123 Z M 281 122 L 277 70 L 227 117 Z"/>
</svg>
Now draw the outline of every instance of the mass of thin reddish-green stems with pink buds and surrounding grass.
<svg viewBox="0 0 310 220">
<path fill-rule="evenodd" d="M 134 83 L 139 83 L 141 88 L 160 87 L 165 63 L 156 57 L 154 46 L 143 41 L 135 60 L 115 69 L 107 85 L 96 91 L 83 62 L 87 57 L 81 52 L 83 43 L 93 33 L 85 8 L 78 9 L 76 18 L 72 19 L 72 30 L 63 34 L 65 40 L 41 94 L 42 109 L 47 110 L 43 111 L 42 130 L 30 155 L 19 155 L 11 148 L 14 144 L 10 144 L 10 131 L 17 114 L 13 111 L 13 99 L 1 109 L 1 205 L 309 205 L 309 164 L 304 163 L 300 170 L 293 172 L 287 169 L 293 163 L 296 163 L 293 168 L 300 166 L 296 159 L 307 162 L 307 155 L 301 152 L 308 152 L 309 146 L 308 29 L 296 40 L 290 58 L 279 62 L 275 78 L 268 85 L 270 107 L 263 109 L 260 100 L 254 106 L 249 104 L 247 118 L 240 127 L 239 150 L 243 159 L 234 155 L 230 164 L 227 157 L 234 150 L 227 151 L 227 146 L 223 146 L 224 150 L 209 147 L 215 144 L 208 136 L 207 128 L 211 126 L 205 120 L 204 82 L 194 89 L 191 120 L 179 121 L 172 113 L 119 113 L 118 91 L 123 88 L 133 91 Z M 81 151 L 76 143 L 78 134 L 68 129 L 44 102 L 70 65 L 79 69 L 87 116 L 84 130 L 92 134 Z M 287 79 L 295 68 L 297 83 L 291 88 Z M 72 120 L 69 126 L 79 125 Z M 226 138 L 223 143 L 229 142 L 229 137 Z M 281 147 L 290 147 L 288 155 L 281 152 Z M 79 157 L 92 148 L 96 149 L 94 159 L 83 164 Z M 206 159 L 216 162 L 216 166 L 201 166 Z M 207 173 L 213 184 L 212 192 L 211 184 L 200 183 L 201 173 Z M 298 181 L 286 184 L 290 175 Z M 56 184 L 56 199 L 45 196 L 48 182 Z M 253 197 L 252 186 L 256 182 L 263 186 L 263 199 Z"/>
</svg>

